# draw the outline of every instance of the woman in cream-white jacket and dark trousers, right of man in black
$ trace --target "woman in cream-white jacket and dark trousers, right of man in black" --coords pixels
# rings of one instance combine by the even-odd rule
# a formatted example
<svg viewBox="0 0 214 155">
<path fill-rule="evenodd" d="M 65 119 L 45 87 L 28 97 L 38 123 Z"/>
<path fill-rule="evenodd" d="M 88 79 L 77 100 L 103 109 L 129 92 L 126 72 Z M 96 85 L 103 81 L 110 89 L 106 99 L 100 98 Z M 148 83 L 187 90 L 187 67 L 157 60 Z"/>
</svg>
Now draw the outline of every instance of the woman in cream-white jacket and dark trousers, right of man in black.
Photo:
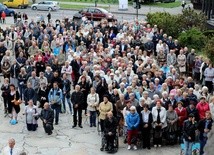
<svg viewBox="0 0 214 155">
<path fill-rule="evenodd" d="M 99 95 L 95 92 L 95 89 L 92 87 L 90 93 L 87 96 L 87 104 L 90 116 L 90 127 L 96 127 L 96 110 L 99 104 Z"/>
</svg>

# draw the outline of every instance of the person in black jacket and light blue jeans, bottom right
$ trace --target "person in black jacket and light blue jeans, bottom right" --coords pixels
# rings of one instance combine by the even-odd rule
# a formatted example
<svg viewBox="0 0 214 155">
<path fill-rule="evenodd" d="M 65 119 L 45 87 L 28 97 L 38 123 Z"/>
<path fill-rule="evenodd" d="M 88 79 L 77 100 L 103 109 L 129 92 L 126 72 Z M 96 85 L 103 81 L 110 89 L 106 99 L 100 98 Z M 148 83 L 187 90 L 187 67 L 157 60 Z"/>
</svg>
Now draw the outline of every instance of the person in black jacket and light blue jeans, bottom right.
<svg viewBox="0 0 214 155">
<path fill-rule="evenodd" d="M 195 116 L 190 114 L 188 119 L 184 121 L 183 126 L 183 137 L 185 145 L 185 155 L 192 154 L 192 145 L 195 141 L 195 130 L 196 130 Z"/>
</svg>

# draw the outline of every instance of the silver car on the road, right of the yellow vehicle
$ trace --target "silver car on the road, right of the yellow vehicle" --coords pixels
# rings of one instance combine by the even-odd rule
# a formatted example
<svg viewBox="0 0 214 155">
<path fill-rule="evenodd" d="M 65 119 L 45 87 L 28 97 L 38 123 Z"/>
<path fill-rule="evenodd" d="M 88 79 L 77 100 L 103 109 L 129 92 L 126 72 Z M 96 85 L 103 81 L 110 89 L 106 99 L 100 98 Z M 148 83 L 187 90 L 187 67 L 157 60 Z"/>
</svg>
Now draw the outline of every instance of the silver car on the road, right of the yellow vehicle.
<svg viewBox="0 0 214 155">
<path fill-rule="evenodd" d="M 31 5 L 31 9 L 33 10 L 48 10 L 55 11 L 59 10 L 59 3 L 55 1 L 43 1 L 36 4 Z"/>
</svg>

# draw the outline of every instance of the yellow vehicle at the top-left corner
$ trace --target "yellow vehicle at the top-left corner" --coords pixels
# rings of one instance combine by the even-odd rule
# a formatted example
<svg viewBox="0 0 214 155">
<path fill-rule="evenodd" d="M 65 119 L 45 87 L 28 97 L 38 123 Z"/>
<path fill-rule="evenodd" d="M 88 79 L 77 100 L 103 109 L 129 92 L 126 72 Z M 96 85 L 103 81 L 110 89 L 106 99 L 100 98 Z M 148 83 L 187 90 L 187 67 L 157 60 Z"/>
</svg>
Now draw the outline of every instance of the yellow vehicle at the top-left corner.
<svg viewBox="0 0 214 155">
<path fill-rule="evenodd" d="M 28 0 L 7 0 L 4 1 L 3 4 L 9 8 L 27 8 L 29 1 Z"/>
</svg>

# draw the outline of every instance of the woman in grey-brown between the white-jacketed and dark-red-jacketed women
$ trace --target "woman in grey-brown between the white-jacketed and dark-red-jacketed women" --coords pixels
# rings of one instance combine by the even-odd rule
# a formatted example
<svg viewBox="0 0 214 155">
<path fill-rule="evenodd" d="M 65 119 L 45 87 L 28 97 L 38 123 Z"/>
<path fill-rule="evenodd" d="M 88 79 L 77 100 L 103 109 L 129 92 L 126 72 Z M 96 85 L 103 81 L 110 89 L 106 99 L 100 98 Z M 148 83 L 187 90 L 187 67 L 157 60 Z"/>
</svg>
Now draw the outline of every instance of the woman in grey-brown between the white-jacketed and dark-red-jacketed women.
<svg viewBox="0 0 214 155">
<path fill-rule="evenodd" d="M 174 111 L 173 106 L 169 105 L 168 110 L 166 112 L 166 121 L 167 121 L 166 132 L 168 133 L 167 134 L 168 144 L 176 143 L 177 120 L 178 120 L 177 113 Z"/>
</svg>

